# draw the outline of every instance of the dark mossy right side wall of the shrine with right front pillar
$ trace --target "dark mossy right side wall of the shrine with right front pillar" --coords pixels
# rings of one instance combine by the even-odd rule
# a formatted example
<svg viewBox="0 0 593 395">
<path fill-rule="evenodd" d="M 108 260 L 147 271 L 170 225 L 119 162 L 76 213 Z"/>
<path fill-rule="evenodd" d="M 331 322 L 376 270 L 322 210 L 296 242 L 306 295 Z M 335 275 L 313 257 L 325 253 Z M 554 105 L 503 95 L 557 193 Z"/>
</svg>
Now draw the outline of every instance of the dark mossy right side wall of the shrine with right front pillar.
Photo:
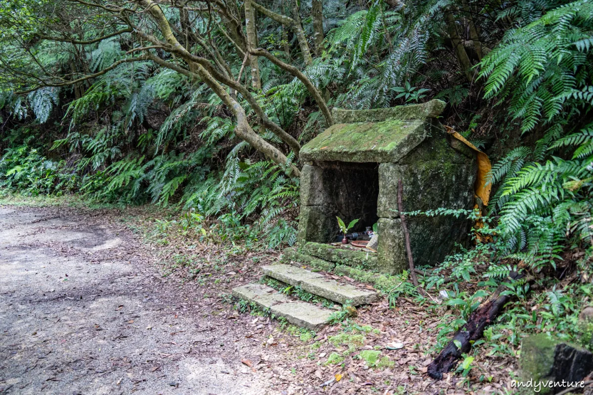
<svg viewBox="0 0 593 395">
<path fill-rule="evenodd" d="M 391 256 L 380 258 L 379 264 L 385 264 L 390 259 L 404 259 L 396 265 L 404 268 L 407 256 L 401 243 L 401 224 L 396 221 L 398 179 L 403 182 L 404 211 L 427 211 L 439 207 L 470 210 L 476 168 L 473 160 L 467 160 L 452 150 L 444 136 L 426 140 L 398 163 L 380 165 L 377 212 L 381 217 L 380 226 L 382 224 L 387 230 L 388 240 L 381 240 L 384 235 L 380 231 L 379 249 L 380 255 L 388 253 Z M 406 220 L 417 265 L 433 265 L 442 261 L 456 242 L 467 238 L 471 225 L 463 216 L 419 215 L 407 216 Z"/>
</svg>

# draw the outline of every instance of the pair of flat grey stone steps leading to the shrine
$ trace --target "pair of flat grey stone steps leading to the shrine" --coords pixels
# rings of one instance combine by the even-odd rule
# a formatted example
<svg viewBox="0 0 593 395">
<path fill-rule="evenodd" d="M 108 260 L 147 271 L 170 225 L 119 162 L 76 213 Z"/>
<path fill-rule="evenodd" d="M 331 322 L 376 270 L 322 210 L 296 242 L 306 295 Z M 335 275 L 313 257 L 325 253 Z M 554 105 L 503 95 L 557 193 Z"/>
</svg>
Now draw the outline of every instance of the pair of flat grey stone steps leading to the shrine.
<svg viewBox="0 0 593 395">
<path fill-rule="evenodd" d="M 276 264 L 263 266 L 268 277 L 286 284 L 301 287 L 303 290 L 324 297 L 337 303 L 349 301 L 353 306 L 371 303 L 378 294 L 371 290 L 362 290 L 352 284 L 344 284 L 297 266 Z M 233 296 L 257 304 L 260 309 L 269 310 L 276 317 L 284 317 L 293 325 L 318 330 L 326 325 L 335 310 L 316 306 L 305 301 L 295 301 L 263 284 L 247 284 L 232 290 Z"/>
</svg>

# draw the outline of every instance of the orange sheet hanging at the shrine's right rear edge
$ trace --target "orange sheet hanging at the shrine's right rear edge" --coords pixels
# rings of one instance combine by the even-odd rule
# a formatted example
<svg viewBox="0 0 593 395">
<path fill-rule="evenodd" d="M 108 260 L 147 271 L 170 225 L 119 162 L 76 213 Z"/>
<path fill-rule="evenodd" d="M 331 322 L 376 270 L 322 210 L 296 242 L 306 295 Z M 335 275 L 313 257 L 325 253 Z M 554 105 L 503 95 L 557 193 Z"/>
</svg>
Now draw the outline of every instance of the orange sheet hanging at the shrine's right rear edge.
<svg viewBox="0 0 593 395">
<path fill-rule="evenodd" d="M 476 177 L 476 182 L 474 183 L 474 198 L 476 200 L 476 205 L 474 208 L 479 210 L 479 216 L 482 216 L 482 209 L 487 207 L 488 201 L 490 200 L 490 190 L 492 190 L 492 183 L 489 182 L 489 174 L 490 169 L 492 169 L 492 164 L 490 163 L 490 159 L 488 155 L 480 151 L 479 149 L 474 146 L 474 144 L 468 142 L 461 134 L 457 133 L 455 129 L 450 126 L 445 126 L 445 130 L 447 133 L 451 134 L 451 136 L 455 137 L 455 139 L 459 140 L 460 142 L 466 144 L 466 146 L 470 147 L 470 149 L 476 153 L 476 160 L 478 165 L 478 174 Z M 474 224 L 474 228 L 480 229 L 484 226 L 482 219 L 477 219 L 476 223 Z M 477 239 L 480 242 L 483 241 L 492 241 L 492 237 L 490 236 L 481 236 L 479 234 L 476 235 Z"/>
</svg>

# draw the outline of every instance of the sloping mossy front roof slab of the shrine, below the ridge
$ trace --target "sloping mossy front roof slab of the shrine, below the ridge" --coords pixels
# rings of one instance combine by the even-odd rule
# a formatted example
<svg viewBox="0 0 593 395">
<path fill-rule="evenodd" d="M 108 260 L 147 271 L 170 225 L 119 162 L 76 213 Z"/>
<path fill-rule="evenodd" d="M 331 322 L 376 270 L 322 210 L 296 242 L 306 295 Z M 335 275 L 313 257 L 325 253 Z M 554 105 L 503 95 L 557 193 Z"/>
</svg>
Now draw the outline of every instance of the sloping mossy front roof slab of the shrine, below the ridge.
<svg viewBox="0 0 593 395">
<path fill-rule="evenodd" d="M 303 160 L 397 162 L 426 138 L 424 120 L 337 123 L 305 144 Z"/>
</svg>

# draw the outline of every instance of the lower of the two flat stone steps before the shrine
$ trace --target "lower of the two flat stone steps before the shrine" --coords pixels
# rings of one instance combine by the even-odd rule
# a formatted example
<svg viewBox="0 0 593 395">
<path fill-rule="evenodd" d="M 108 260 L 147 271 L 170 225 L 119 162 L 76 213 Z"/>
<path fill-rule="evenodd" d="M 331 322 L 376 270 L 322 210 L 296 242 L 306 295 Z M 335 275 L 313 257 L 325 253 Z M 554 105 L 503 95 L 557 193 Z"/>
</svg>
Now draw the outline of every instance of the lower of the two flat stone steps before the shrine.
<svg viewBox="0 0 593 395">
<path fill-rule="evenodd" d="M 276 317 L 284 317 L 289 323 L 310 330 L 319 330 L 329 322 L 334 310 L 324 309 L 304 301 L 294 301 L 274 288 L 263 284 L 247 284 L 233 288 L 235 297 L 270 309 Z"/>
</svg>

